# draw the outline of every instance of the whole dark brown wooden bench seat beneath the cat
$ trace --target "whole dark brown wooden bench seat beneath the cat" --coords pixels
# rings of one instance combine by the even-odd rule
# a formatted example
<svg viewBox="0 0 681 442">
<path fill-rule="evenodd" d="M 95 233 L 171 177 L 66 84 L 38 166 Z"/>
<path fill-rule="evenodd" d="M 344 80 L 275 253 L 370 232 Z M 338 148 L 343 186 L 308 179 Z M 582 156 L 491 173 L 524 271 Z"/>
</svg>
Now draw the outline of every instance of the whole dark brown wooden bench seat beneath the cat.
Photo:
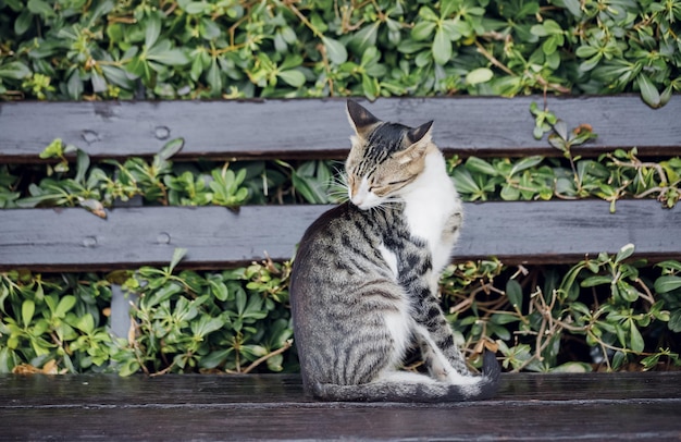
<svg viewBox="0 0 681 442">
<path fill-rule="evenodd" d="M 319 403 L 297 376 L 0 377 L 0 440 L 678 440 L 681 373 L 504 375 L 478 403 Z"/>
</svg>

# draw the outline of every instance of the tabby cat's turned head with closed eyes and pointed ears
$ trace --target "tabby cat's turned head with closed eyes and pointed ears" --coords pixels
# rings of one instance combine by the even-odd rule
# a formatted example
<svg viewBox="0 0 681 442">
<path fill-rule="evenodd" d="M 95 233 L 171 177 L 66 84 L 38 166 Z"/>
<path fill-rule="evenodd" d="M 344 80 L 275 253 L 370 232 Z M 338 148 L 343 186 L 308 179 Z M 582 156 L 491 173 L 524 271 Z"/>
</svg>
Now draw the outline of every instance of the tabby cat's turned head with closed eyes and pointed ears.
<svg viewBox="0 0 681 442">
<path fill-rule="evenodd" d="M 399 198 L 425 165 L 433 122 L 419 127 L 386 123 L 352 100 L 348 120 L 355 128 L 352 147 L 345 162 L 348 196 L 362 210 Z"/>
</svg>

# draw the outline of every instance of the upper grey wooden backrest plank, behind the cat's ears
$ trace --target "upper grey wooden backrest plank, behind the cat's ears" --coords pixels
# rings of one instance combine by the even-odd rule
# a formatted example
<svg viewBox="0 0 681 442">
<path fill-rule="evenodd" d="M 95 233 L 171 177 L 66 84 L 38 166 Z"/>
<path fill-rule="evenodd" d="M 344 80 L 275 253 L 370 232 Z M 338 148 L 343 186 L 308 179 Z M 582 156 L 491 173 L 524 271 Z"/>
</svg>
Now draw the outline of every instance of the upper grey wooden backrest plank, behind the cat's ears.
<svg viewBox="0 0 681 442">
<path fill-rule="evenodd" d="M 446 152 L 475 156 L 554 155 L 532 137 L 530 103 L 541 97 L 382 98 L 368 108 L 384 120 L 435 120 Z M 596 155 L 639 147 L 643 155 L 679 155 L 681 99 L 653 110 L 637 96 L 550 97 L 570 127 L 589 123 L 598 139 L 575 150 Z M 177 158 L 343 158 L 349 148 L 345 99 L 0 102 L 0 161 L 36 161 L 54 138 L 94 158 L 149 156 L 175 137 Z"/>
</svg>

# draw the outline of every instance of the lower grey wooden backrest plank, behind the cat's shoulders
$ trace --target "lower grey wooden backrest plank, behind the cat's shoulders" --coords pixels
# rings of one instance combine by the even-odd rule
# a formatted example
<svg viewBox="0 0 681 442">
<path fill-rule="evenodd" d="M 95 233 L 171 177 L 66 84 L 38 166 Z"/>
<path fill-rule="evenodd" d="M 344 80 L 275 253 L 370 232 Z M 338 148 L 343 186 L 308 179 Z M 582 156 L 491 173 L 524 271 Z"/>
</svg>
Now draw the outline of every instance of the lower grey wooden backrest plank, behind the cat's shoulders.
<svg viewBox="0 0 681 442">
<path fill-rule="evenodd" d="M 108 270 L 165 265 L 176 247 L 183 265 L 220 269 L 265 257 L 289 259 L 325 206 L 141 207 L 0 210 L 0 270 Z M 633 243 L 636 256 L 681 256 L 681 209 L 655 200 L 466 204 L 457 260 L 496 256 L 507 263 L 575 262 Z"/>
</svg>

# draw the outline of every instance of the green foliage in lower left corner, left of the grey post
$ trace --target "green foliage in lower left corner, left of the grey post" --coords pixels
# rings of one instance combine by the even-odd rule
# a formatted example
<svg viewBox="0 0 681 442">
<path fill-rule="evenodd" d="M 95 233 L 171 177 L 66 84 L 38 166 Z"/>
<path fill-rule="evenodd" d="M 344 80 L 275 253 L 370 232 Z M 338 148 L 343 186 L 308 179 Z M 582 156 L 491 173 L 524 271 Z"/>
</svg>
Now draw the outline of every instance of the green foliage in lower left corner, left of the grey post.
<svg viewBox="0 0 681 442">
<path fill-rule="evenodd" d="M 107 369 L 110 302 L 110 284 L 95 274 L 0 273 L 0 372 L 24 365 L 59 372 Z"/>
</svg>

